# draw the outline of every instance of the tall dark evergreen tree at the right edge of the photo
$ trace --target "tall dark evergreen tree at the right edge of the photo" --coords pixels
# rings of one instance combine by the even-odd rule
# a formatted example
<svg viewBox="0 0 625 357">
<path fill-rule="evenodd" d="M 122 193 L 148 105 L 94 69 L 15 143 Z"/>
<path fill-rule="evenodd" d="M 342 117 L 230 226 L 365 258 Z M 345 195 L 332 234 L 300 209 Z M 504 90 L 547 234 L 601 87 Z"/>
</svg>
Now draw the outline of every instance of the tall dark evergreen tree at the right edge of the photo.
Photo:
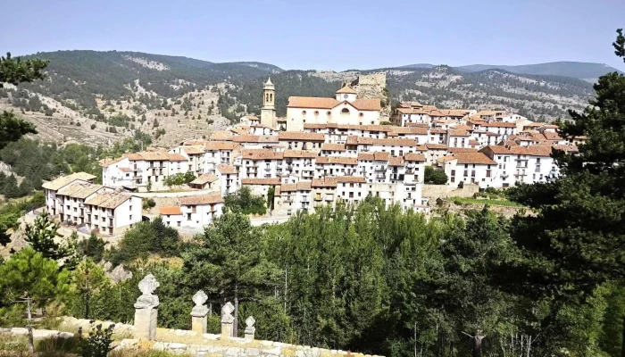
<svg viewBox="0 0 625 357">
<path fill-rule="evenodd" d="M 613 46 L 625 57 L 621 29 Z M 532 260 L 512 274 L 525 277 L 517 292 L 554 301 L 544 342 L 571 338 L 557 319 L 567 305 L 583 306 L 605 282 L 625 283 L 625 76 L 606 74 L 595 90 L 584 112 L 571 111 L 571 120 L 561 123 L 562 136 L 587 136 L 579 154 L 554 152 L 562 176 L 511 191 L 537 212 L 513 220 L 512 237 Z"/>
</svg>

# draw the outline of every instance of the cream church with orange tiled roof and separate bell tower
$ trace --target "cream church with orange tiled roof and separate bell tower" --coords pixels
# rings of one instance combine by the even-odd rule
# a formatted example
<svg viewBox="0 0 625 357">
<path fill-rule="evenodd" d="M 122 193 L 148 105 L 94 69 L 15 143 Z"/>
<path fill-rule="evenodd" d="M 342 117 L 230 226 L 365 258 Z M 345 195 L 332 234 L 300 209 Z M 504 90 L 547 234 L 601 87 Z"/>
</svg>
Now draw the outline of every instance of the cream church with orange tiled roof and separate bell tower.
<svg viewBox="0 0 625 357">
<path fill-rule="evenodd" d="M 271 79 L 262 87 L 261 124 L 277 128 L 276 88 Z M 346 86 L 334 98 L 290 96 L 287 105 L 287 131 L 304 131 L 305 124 L 379 125 L 379 99 L 358 99 Z"/>
</svg>

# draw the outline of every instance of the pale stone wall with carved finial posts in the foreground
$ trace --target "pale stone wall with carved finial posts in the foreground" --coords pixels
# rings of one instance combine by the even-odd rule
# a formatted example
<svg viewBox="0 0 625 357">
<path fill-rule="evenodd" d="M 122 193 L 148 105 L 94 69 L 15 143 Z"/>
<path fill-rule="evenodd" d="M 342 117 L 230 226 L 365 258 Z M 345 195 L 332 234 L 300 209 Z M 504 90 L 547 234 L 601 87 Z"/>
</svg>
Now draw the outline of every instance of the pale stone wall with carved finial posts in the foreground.
<svg viewBox="0 0 625 357">
<path fill-rule="evenodd" d="M 208 296 L 198 291 L 191 300 L 195 306 L 189 314 L 191 330 L 157 328 L 158 308 L 160 301 L 154 291 L 160 286 L 158 281 L 148 274 L 139 284 L 141 295 L 137 298 L 135 321 L 133 325 L 114 324 L 114 349 L 154 349 L 171 353 L 186 353 L 194 356 L 211 357 L 379 357 L 362 353 L 350 353 L 340 350 L 329 350 L 305 345 L 290 345 L 281 342 L 259 341 L 254 338 L 255 320 L 246 319 L 245 337 L 237 337 L 234 328 L 234 306 L 225 303 L 221 307 L 221 334 L 206 333 L 206 316 L 209 309 L 205 303 Z M 88 333 L 93 326 L 101 324 L 108 328 L 113 322 L 80 320 L 64 318 L 63 328 L 67 331 Z M 26 328 L 4 328 L 0 333 L 12 336 L 26 335 Z M 71 338 L 70 332 L 56 330 L 35 330 L 36 338 L 57 337 Z"/>
</svg>

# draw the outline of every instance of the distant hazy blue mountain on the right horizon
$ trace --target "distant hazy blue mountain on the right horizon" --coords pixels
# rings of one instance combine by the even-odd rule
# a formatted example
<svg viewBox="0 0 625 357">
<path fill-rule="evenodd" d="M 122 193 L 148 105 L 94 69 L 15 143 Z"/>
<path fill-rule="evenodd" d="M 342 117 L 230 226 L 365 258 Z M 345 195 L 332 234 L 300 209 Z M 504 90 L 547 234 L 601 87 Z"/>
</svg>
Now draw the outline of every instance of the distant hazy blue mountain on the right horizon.
<svg viewBox="0 0 625 357">
<path fill-rule="evenodd" d="M 621 72 L 607 64 L 591 62 L 547 62 L 518 66 L 471 64 L 455 67 L 455 69 L 465 72 L 504 70 L 512 73 L 563 76 L 576 79 L 596 79 L 609 72 Z"/>
</svg>

